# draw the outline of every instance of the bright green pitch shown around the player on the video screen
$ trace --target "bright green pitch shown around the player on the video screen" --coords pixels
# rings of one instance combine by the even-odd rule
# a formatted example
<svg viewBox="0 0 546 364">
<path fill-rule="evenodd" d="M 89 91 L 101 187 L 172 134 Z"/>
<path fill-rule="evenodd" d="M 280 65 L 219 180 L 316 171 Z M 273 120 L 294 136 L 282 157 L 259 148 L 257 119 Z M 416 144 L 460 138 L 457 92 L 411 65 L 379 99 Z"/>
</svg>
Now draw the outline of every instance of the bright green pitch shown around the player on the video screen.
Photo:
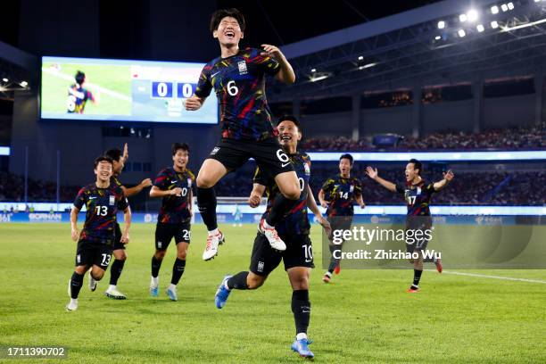
<svg viewBox="0 0 546 364">
<path fill-rule="evenodd" d="M 45 62 L 44 69 L 49 69 L 51 63 Z M 131 97 L 130 66 L 120 65 L 77 65 L 62 64 L 56 75 L 43 72 L 42 96 L 40 103 L 44 112 L 66 112 L 68 87 L 74 84 L 74 75 L 78 70 L 86 73 L 87 82 L 100 86 L 125 97 Z M 68 79 L 70 78 L 70 79 Z M 96 95 L 96 87 L 87 87 Z M 98 115 L 130 115 L 131 103 L 127 99 L 100 93 L 99 103 L 86 103 L 85 114 Z"/>
</svg>

